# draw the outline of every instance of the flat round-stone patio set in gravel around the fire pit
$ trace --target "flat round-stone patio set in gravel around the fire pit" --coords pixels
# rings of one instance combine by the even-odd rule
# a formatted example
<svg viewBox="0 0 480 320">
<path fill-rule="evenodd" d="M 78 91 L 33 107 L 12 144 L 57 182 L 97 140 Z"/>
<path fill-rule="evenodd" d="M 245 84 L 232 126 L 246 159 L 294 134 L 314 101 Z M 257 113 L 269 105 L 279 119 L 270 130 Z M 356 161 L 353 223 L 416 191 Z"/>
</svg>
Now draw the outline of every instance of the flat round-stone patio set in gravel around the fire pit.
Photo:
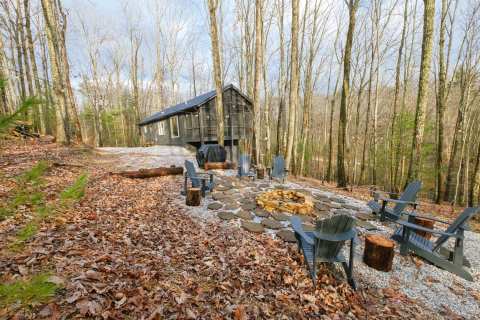
<svg viewBox="0 0 480 320">
<path fill-rule="evenodd" d="M 295 242 L 295 236 L 290 226 L 289 212 L 268 212 L 257 205 L 256 198 L 259 194 L 276 190 L 288 189 L 302 193 L 313 200 L 313 212 L 310 216 L 298 214 L 304 222 L 306 230 L 314 230 L 315 221 L 335 214 L 348 214 L 357 218 L 357 226 L 365 231 L 375 230 L 376 227 L 369 223 L 373 220 L 371 210 L 362 202 L 332 192 L 316 188 L 306 188 L 298 184 L 277 181 L 252 180 L 251 178 L 239 179 L 235 171 L 216 171 L 216 187 L 214 191 L 203 199 L 204 215 L 216 216 L 219 220 L 235 223 L 239 227 L 253 233 L 268 233 L 286 242 Z M 195 210 L 195 209 L 191 209 Z M 202 208 L 196 209 L 202 214 Z"/>
</svg>

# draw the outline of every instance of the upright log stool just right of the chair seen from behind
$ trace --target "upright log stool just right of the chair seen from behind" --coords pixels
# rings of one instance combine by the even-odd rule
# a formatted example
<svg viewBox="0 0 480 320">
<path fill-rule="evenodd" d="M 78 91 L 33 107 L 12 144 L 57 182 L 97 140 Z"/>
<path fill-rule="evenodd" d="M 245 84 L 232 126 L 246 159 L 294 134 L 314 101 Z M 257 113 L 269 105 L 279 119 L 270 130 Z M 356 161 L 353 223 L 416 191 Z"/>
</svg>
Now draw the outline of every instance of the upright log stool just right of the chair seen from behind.
<svg viewBox="0 0 480 320">
<path fill-rule="evenodd" d="M 395 243 L 377 234 L 365 236 L 363 262 L 380 271 L 392 270 Z"/>
</svg>

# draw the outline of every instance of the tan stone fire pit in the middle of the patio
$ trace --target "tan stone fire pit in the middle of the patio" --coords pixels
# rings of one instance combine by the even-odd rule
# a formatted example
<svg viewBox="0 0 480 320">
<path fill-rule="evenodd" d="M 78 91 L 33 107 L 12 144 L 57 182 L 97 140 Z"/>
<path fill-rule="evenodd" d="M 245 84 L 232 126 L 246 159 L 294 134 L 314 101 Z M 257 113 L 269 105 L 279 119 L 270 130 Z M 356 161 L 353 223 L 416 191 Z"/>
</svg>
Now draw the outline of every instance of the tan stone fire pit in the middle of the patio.
<svg viewBox="0 0 480 320">
<path fill-rule="evenodd" d="M 272 190 L 257 196 L 257 205 L 268 212 L 280 211 L 311 215 L 313 200 L 311 197 L 294 190 Z"/>
</svg>

